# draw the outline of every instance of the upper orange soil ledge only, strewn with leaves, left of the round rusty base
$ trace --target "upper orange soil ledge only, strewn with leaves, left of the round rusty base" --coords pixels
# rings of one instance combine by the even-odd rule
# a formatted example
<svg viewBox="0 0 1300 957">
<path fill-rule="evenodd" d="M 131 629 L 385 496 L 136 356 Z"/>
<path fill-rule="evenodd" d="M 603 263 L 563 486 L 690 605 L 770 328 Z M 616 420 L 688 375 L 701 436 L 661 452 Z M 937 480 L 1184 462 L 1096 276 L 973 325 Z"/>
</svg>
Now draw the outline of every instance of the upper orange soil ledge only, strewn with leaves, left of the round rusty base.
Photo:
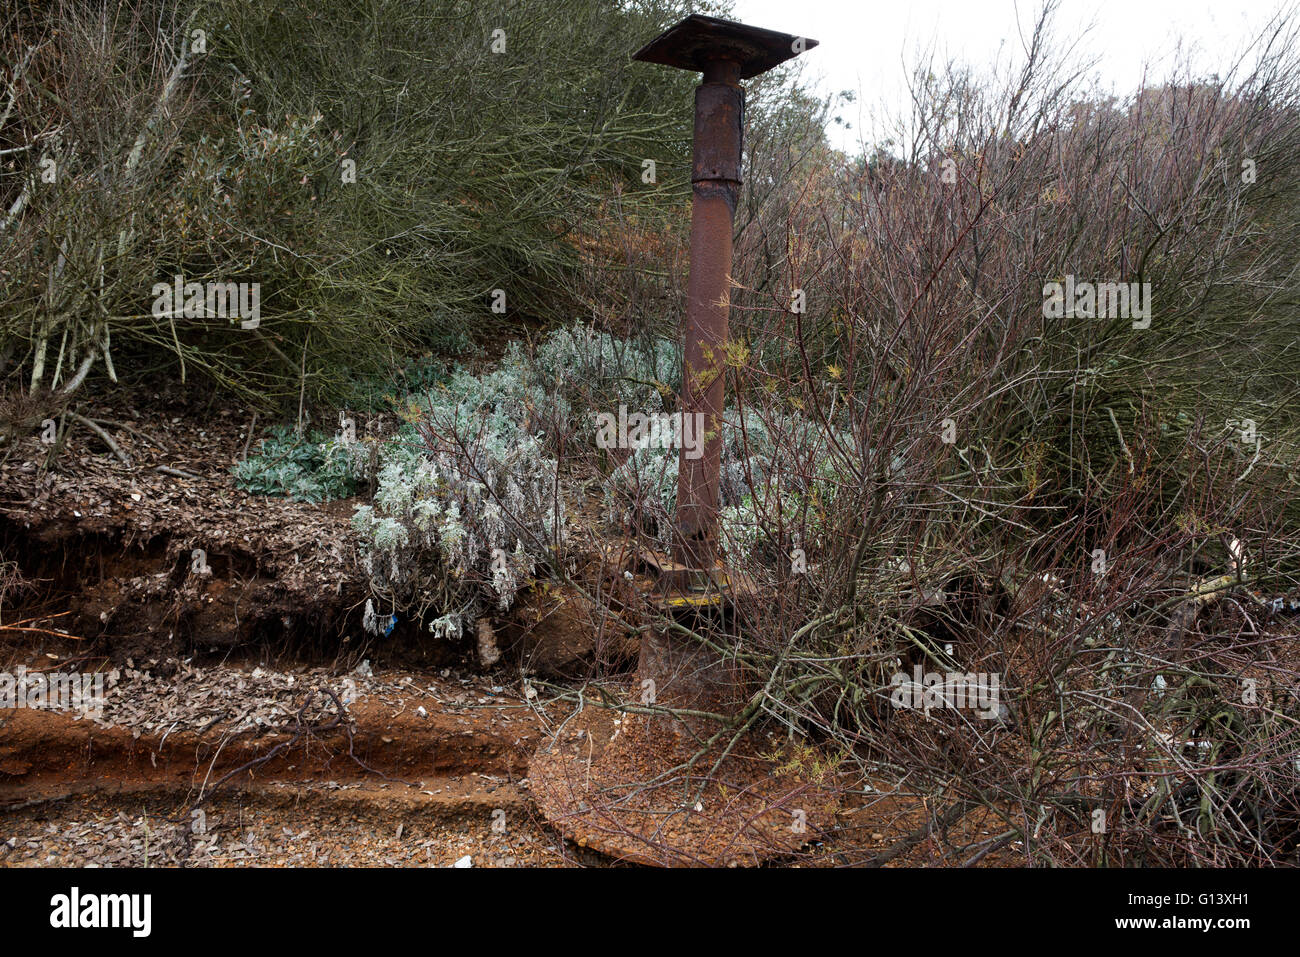
<svg viewBox="0 0 1300 957">
<path fill-rule="evenodd" d="M 339 701 L 346 700 L 346 690 L 335 690 Z M 143 722 L 101 727 L 57 711 L 8 709 L 0 711 L 0 787 L 136 776 L 185 785 L 198 794 L 205 781 L 214 784 L 268 753 L 274 757 L 233 783 L 295 775 L 419 780 L 469 770 L 503 779 L 523 776 L 541 739 L 532 713 L 514 696 L 486 688 L 472 693 L 426 677 L 420 684 L 390 684 L 347 703 L 339 722 L 333 701 L 304 681 L 298 701 L 318 705 L 318 716 L 304 715 L 299 723 L 298 707 L 270 707 L 270 714 L 254 715 L 252 722 L 234 726 L 213 719 L 202 728 L 182 713 L 166 714 L 161 727 L 147 729 Z M 112 694 L 130 697 L 133 687 L 120 685 Z"/>
</svg>

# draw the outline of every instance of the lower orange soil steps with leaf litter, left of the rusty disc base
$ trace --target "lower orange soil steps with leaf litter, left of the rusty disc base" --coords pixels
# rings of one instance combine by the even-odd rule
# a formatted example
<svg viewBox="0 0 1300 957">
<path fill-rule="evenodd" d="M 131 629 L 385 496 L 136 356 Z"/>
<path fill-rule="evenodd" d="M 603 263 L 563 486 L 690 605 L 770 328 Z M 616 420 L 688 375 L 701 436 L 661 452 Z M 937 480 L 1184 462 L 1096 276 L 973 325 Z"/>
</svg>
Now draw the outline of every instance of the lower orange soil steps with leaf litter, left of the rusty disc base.
<svg viewBox="0 0 1300 957">
<path fill-rule="evenodd" d="M 541 732 L 519 696 L 471 677 L 320 671 L 191 674 L 192 698 L 204 702 L 224 700 L 225 685 L 240 688 L 226 709 L 238 718 L 202 728 L 203 713 L 174 698 L 142 709 L 156 697 L 142 672 L 107 693 L 98 719 L 0 713 L 0 863 L 564 862 L 523 780 Z M 256 672 L 280 679 L 273 685 L 298 679 L 299 697 L 312 702 L 315 690 L 324 707 L 286 716 L 250 680 Z M 134 723 L 105 720 L 126 715 L 118 698 L 133 703 Z M 344 720 L 329 727 L 344 698 Z M 159 714 L 169 727 L 153 727 Z"/>
</svg>

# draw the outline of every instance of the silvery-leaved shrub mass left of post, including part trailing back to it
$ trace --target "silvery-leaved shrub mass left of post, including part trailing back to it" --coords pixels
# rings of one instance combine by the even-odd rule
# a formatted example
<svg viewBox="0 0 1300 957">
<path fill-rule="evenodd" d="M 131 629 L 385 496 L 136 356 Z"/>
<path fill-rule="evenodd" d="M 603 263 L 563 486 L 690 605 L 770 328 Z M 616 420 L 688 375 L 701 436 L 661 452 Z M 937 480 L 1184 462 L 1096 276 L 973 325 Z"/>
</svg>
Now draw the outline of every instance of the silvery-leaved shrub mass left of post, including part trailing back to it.
<svg viewBox="0 0 1300 957">
<path fill-rule="evenodd" d="M 510 607 L 564 541 L 560 449 L 594 447 L 594 411 L 664 408 L 679 380 L 670 343 L 573 326 L 532 358 L 511 343 L 490 372 L 456 368 L 412 398 L 381 450 L 374 501 L 354 516 L 382 601 L 442 637 Z"/>
</svg>

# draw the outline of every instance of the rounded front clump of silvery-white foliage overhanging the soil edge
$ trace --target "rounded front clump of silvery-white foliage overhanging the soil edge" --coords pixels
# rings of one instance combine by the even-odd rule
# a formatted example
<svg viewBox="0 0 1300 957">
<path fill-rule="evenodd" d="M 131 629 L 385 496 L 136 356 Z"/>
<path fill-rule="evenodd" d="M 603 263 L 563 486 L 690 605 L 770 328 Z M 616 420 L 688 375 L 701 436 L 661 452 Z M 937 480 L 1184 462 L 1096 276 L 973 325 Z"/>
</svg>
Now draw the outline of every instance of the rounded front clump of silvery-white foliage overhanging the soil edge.
<svg viewBox="0 0 1300 957">
<path fill-rule="evenodd" d="M 562 408 L 517 347 L 491 373 L 456 369 L 412 399 L 410 421 L 381 450 L 374 501 L 352 519 L 372 586 L 395 611 L 459 637 L 510 607 L 550 559 L 564 501 L 558 463 L 533 429 Z"/>
</svg>

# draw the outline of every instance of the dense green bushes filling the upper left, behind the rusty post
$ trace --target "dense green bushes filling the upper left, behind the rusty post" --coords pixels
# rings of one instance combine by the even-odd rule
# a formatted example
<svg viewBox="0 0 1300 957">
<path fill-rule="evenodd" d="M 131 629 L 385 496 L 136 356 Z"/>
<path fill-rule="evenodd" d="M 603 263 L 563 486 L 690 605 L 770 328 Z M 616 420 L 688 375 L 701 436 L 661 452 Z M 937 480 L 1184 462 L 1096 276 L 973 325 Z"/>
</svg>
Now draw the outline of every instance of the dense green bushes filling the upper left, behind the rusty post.
<svg viewBox="0 0 1300 957">
<path fill-rule="evenodd" d="M 311 400 L 419 347 L 464 352 L 503 328 L 604 312 L 584 247 L 611 220 L 680 220 L 690 81 L 628 59 L 680 13 L 614 0 L 10 10 L 0 372 L 73 393 L 86 373 L 144 364 Z M 257 326 L 156 315 L 152 289 L 176 276 L 260 283 Z"/>
</svg>

